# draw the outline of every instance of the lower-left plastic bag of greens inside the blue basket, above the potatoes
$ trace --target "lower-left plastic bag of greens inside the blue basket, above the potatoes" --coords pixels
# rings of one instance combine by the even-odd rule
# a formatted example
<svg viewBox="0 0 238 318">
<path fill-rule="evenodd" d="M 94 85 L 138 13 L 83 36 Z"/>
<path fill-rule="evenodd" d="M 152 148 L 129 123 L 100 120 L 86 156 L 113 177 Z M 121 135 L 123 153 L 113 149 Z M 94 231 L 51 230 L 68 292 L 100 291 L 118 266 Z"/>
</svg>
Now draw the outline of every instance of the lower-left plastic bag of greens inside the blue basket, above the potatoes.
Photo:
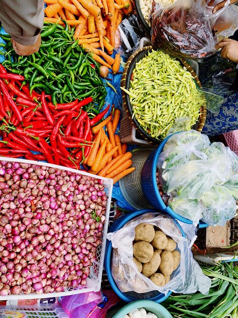
<svg viewBox="0 0 238 318">
<path fill-rule="evenodd" d="M 193 225 L 197 226 L 204 212 L 204 207 L 197 200 L 186 200 L 174 197 L 169 199 L 169 206 L 180 216 L 186 217 L 193 221 Z"/>
</svg>

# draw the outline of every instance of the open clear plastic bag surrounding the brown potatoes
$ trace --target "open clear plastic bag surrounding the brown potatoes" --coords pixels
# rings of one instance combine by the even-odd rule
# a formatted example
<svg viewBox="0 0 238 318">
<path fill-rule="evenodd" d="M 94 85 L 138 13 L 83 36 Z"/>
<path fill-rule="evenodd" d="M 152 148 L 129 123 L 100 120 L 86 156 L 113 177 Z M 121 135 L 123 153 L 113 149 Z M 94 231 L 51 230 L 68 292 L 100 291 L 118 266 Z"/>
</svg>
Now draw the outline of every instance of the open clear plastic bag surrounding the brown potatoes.
<svg viewBox="0 0 238 318">
<path fill-rule="evenodd" d="M 149 278 L 139 273 L 133 261 L 133 240 L 135 227 L 141 223 L 149 223 L 160 228 L 166 235 L 176 241 L 181 253 L 179 267 L 171 275 L 171 280 L 158 287 Z M 157 290 L 163 294 L 194 293 L 200 291 L 208 294 L 211 280 L 203 275 L 200 266 L 192 257 L 187 240 L 182 237 L 174 220 L 164 213 L 146 213 L 128 222 L 122 229 L 108 233 L 113 247 L 112 275 L 122 292 L 146 293 Z"/>
</svg>

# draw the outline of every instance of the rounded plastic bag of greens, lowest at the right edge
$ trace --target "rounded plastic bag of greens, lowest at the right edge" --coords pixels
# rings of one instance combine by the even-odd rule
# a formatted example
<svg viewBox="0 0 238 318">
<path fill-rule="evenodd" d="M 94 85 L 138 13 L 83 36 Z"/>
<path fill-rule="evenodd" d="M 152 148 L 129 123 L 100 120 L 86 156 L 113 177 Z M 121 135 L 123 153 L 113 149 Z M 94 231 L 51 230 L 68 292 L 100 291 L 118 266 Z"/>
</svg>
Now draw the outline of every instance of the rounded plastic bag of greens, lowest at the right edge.
<svg viewBox="0 0 238 318">
<path fill-rule="evenodd" d="M 201 198 L 205 207 L 202 220 L 211 226 L 224 226 L 236 213 L 235 199 L 224 186 L 215 185 Z"/>
</svg>

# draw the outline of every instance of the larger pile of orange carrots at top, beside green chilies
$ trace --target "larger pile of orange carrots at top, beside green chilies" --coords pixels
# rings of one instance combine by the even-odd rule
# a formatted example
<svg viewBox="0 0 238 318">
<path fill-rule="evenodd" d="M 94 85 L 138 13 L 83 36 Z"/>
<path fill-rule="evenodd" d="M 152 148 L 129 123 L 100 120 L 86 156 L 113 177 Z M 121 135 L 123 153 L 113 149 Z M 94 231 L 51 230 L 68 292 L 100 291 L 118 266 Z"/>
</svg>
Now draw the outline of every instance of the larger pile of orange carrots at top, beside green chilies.
<svg viewBox="0 0 238 318">
<path fill-rule="evenodd" d="M 133 0 L 45 0 L 45 3 L 45 21 L 64 24 L 61 19 L 66 20 L 75 25 L 74 38 L 79 45 L 90 45 L 88 49 L 94 53 L 94 49 L 101 48 L 104 52 L 105 48 L 109 55 L 115 48 L 118 25 L 125 15 L 133 12 Z M 106 62 L 111 68 L 112 60 Z"/>
</svg>

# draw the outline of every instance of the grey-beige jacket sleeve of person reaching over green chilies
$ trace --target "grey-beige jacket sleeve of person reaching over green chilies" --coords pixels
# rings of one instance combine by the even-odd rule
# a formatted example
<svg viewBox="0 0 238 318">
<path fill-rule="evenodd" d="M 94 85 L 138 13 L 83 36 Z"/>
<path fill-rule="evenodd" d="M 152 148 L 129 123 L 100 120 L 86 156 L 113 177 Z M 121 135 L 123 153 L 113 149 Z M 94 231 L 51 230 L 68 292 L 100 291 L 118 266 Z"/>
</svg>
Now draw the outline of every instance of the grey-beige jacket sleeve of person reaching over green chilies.
<svg viewBox="0 0 238 318">
<path fill-rule="evenodd" d="M 44 0 L 0 0 L 0 20 L 22 45 L 33 45 L 44 23 Z"/>
</svg>

